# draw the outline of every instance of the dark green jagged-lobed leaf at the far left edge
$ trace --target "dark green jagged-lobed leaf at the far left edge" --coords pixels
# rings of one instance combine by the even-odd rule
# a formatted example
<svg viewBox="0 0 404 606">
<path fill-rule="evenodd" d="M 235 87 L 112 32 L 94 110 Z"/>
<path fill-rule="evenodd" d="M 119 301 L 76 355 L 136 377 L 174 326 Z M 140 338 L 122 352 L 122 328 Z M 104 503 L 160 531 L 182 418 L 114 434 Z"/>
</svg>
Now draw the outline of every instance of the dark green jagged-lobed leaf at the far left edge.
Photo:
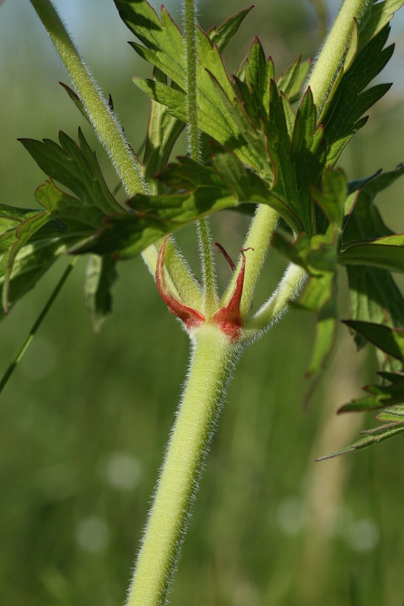
<svg viewBox="0 0 404 606">
<path fill-rule="evenodd" d="M 50 179 L 35 196 L 45 210 L 0 209 L 0 285 L 8 311 L 45 273 L 59 255 L 93 235 L 105 215 L 124 210 L 115 201 L 98 161 L 79 131 L 80 147 L 60 133 L 53 141 L 22 139 L 42 170 L 76 193 L 68 195 Z"/>
</svg>

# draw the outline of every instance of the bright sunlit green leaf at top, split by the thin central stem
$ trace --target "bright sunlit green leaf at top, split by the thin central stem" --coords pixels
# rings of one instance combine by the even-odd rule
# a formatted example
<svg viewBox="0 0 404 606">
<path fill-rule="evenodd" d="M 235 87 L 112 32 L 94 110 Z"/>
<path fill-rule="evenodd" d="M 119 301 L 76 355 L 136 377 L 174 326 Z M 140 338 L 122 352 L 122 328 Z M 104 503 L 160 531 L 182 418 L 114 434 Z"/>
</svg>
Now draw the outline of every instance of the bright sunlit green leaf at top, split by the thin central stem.
<svg viewBox="0 0 404 606">
<path fill-rule="evenodd" d="M 171 78 L 180 90 L 173 92 L 173 88 L 163 82 L 141 81 L 141 79 L 134 79 L 134 81 L 154 101 L 166 105 L 168 112 L 174 118 L 186 121 L 185 45 L 179 28 L 164 7 L 161 10 L 161 19 L 159 19 L 154 9 L 144 0 L 115 0 L 115 4 L 122 20 L 144 44 L 143 46 L 137 42 L 131 42 L 134 50 L 142 58 L 159 68 L 168 78 Z M 247 15 L 247 10 L 233 21 L 228 20 L 228 27 L 222 24 L 224 36 L 220 34 L 219 42 L 228 41 L 230 32 L 236 31 L 235 25 L 238 27 L 245 15 Z M 263 166 L 259 153 L 248 145 L 237 130 L 226 112 L 222 96 L 214 83 L 217 82 L 230 100 L 236 98 L 236 93 L 220 56 L 219 47 L 216 42 L 212 43 L 210 37 L 200 29 L 197 32 L 197 52 L 199 55 L 199 61 L 196 63 L 199 127 L 209 136 L 234 150 L 243 162 L 262 172 Z"/>
</svg>

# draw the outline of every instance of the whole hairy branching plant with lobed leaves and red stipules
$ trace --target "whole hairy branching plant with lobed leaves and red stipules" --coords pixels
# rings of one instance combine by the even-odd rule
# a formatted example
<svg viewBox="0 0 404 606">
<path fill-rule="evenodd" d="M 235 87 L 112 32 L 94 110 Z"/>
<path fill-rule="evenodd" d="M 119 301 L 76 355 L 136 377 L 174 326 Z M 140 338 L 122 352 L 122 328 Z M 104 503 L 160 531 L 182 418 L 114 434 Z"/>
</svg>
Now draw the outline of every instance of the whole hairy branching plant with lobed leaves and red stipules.
<svg viewBox="0 0 404 606">
<path fill-rule="evenodd" d="M 345 145 L 365 125 L 366 110 L 388 91 L 389 84 L 368 85 L 391 57 L 388 24 L 403 2 L 345 0 L 313 67 L 298 58 L 278 76 L 258 38 L 233 76 L 225 70 L 221 53 L 251 7 L 203 32 L 196 25 L 193 0 L 185 0 L 182 33 L 164 7 L 158 16 L 145 0 L 114 2 L 141 42 L 131 42 L 134 50 L 154 66 L 151 79 L 134 78 L 151 99 L 142 163 L 51 2 L 31 0 L 76 88 L 77 94 L 65 86 L 67 93 L 110 156 L 127 204 L 122 207 L 110 193 L 81 132 L 79 145 L 64 133 L 59 144 L 21 139 L 48 176 L 36 190 L 44 210 L 1 205 L 0 275 L 7 313 L 58 256 L 90 255 L 85 291 L 99 327 L 109 311 L 117 262 L 142 253 L 163 301 L 190 336 L 187 384 L 128 592 L 128 605 L 156 606 L 167 599 L 237 358 L 295 299 L 295 305 L 317 315 L 308 368 L 316 378 L 334 344 L 340 265 L 348 272 L 351 292 L 345 323 L 359 347 L 365 342 L 376 346 L 383 366 L 382 384 L 368 387 L 366 398 L 344 410 L 382 408 L 383 425 L 331 456 L 404 431 L 404 301 L 391 276 L 404 270 L 404 235 L 392 233 L 374 205 L 377 193 L 404 168 L 351 182 L 335 168 Z M 184 127 L 188 155 L 168 164 Z M 235 265 L 222 245 L 211 241 L 207 216 L 237 210 L 242 203 L 251 205 L 253 219 Z M 202 284 L 170 235 L 191 222 L 197 222 Z M 251 313 L 270 245 L 290 265 L 268 301 Z M 233 270 L 222 296 L 214 275 L 215 248 Z M 381 285 L 377 293 L 376 283 Z M 366 304 L 369 300 L 372 305 Z"/>
</svg>

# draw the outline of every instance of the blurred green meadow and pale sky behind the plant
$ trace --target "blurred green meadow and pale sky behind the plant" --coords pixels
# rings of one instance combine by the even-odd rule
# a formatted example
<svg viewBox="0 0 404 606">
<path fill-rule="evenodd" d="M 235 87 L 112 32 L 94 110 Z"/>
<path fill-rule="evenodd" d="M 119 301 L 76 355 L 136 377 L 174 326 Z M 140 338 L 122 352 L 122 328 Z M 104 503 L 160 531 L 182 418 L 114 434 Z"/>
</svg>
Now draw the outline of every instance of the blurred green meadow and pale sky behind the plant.
<svg viewBox="0 0 404 606">
<path fill-rule="evenodd" d="M 337 10 L 328 4 L 328 21 Z M 148 102 L 130 80 L 150 76 L 126 44 L 111 0 L 56 2 L 136 150 Z M 168 1 L 180 22 L 180 4 Z M 243 4 L 200 2 L 204 28 Z M 396 84 L 340 164 L 349 178 L 404 160 L 403 14 L 393 20 Z M 277 72 L 319 46 L 308 0 L 257 0 L 227 50 L 231 71 L 259 35 Z M 117 184 L 98 142 L 58 81 L 68 82 L 29 3 L 0 7 L 1 202 L 32 206 L 45 176 L 18 137 L 56 139 L 79 125 Z M 177 152 L 185 149 L 184 141 Z M 386 222 L 404 231 L 403 183 L 380 198 Z M 236 256 L 247 222 L 214 218 L 214 237 Z M 179 234 L 197 271 L 193 227 Z M 55 265 L 0 327 L 0 373 L 38 316 L 66 259 Z M 285 264 L 271 253 L 256 307 Z M 13 606 L 122 604 L 150 494 L 188 363 L 184 331 L 157 295 L 141 259 L 124 262 L 114 313 L 99 335 L 82 304 L 85 260 L 69 279 L 0 402 L 0 602 Z M 229 278 L 217 259 L 219 279 Z M 402 284 L 402 282 L 401 282 Z M 346 292 L 341 289 L 342 315 Z M 316 456 L 357 439 L 373 415 L 337 418 L 339 405 L 374 380 L 371 351 L 356 354 L 345 328 L 311 401 L 303 373 L 314 318 L 289 313 L 237 367 L 211 447 L 170 603 L 175 606 L 381 606 L 404 599 L 402 439 L 345 458 Z"/>
</svg>

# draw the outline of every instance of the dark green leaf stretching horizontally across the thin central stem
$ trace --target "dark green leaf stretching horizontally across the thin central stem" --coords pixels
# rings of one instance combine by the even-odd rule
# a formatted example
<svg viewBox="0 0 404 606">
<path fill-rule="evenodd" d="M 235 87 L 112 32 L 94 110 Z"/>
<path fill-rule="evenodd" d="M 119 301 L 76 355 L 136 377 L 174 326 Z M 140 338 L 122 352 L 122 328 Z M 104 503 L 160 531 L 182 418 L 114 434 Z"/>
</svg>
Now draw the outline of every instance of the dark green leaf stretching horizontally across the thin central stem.
<svg viewBox="0 0 404 606">
<path fill-rule="evenodd" d="M 187 157 L 179 158 L 177 164 L 169 165 L 159 175 L 174 193 L 134 196 L 128 204 L 136 213 L 110 216 L 101 230 L 75 252 L 130 258 L 167 233 L 240 202 L 269 204 L 282 210 L 282 202 L 271 196 L 266 182 L 234 155 L 216 150 L 212 164 L 209 167 Z M 234 171 L 242 173 L 240 182 Z"/>
</svg>

